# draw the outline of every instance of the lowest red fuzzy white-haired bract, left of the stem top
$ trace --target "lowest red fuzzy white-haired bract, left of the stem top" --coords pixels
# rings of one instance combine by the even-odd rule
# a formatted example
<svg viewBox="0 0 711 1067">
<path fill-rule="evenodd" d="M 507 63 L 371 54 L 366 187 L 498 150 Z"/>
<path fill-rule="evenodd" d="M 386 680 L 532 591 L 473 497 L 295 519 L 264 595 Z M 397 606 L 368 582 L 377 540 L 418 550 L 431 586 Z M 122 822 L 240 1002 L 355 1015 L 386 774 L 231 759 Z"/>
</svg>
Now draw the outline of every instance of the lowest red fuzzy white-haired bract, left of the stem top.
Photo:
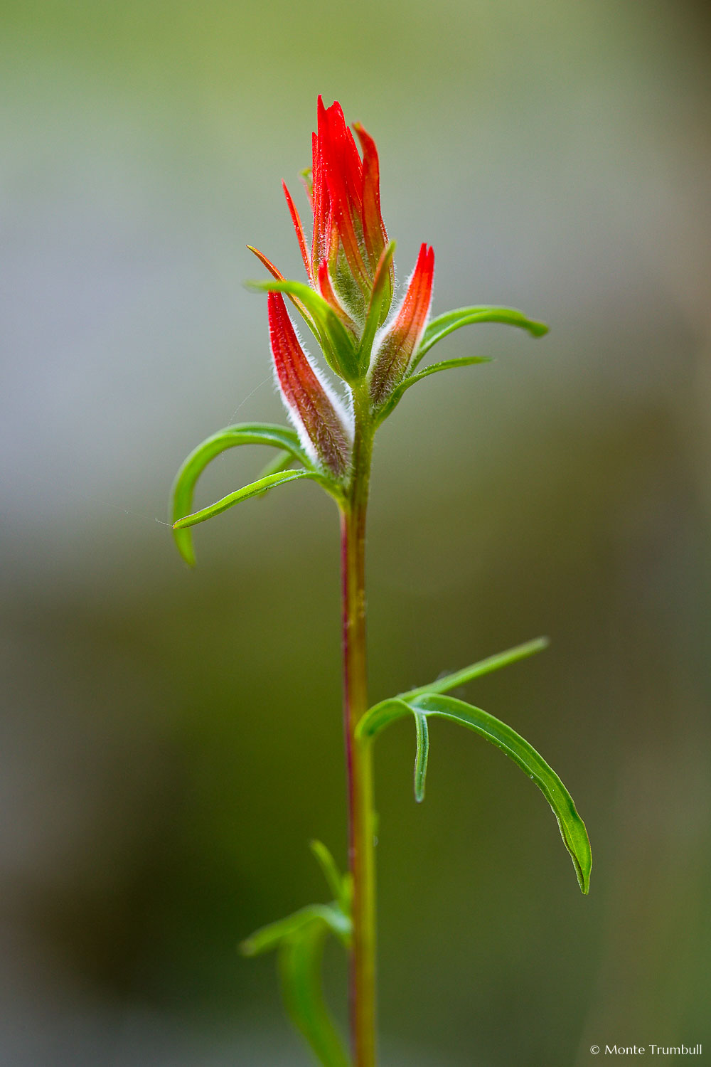
<svg viewBox="0 0 711 1067">
<path fill-rule="evenodd" d="M 287 411 L 307 455 L 341 478 L 351 464 L 348 416 L 302 348 L 281 293 L 268 299 L 270 345 Z"/>
</svg>

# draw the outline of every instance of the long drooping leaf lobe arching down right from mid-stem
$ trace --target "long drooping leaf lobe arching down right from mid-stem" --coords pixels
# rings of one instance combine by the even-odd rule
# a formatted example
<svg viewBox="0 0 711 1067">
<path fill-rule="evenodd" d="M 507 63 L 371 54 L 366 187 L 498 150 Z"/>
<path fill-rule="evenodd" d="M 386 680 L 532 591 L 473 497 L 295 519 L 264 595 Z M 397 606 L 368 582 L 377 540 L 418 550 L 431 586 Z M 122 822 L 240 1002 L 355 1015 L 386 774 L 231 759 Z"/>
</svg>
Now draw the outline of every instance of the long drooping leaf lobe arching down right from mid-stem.
<svg viewBox="0 0 711 1067">
<path fill-rule="evenodd" d="M 555 771 L 548 766 L 538 752 L 528 740 L 516 733 L 500 719 L 489 715 L 481 707 L 466 704 L 454 697 L 443 697 L 436 694 L 424 694 L 408 700 L 413 710 L 425 715 L 438 715 L 460 726 L 473 730 L 474 733 L 491 742 L 502 752 L 505 752 L 521 770 L 535 782 L 548 800 L 558 819 L 563 843 L 570 854 L 572 865 L 578 876 L 578 882 L 583 893 L 589 889 L 593 856 L 585 824 L 578 814 L 572 797 Z"/>
</svg>

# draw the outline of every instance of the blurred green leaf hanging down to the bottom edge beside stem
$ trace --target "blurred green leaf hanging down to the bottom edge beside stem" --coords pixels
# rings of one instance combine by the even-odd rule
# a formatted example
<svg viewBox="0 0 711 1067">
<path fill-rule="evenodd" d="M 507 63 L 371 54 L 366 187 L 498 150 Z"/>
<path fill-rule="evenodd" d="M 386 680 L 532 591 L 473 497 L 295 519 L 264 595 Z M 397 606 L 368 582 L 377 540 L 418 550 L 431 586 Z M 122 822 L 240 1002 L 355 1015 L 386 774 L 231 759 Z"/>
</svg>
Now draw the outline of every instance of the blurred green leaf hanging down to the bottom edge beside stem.
<svg viewBox="0 0 711 1067">
<path fill-rule="evenodd" d="M 302 926 L 279 950 L 284 1001 L 294 1026 L 303 1034 L 322 1067 L 351 1067 L 321 991 L 321 957 L 326 929 L 322 923 Z"/>
</svg>

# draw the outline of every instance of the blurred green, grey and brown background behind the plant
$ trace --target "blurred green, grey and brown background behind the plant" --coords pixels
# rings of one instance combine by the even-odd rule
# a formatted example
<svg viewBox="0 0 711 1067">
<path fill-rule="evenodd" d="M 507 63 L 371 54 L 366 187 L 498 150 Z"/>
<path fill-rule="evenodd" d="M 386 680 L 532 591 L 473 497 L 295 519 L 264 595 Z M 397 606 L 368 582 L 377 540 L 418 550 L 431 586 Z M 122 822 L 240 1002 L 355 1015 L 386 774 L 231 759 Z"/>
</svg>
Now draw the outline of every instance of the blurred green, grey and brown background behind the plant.
<svg viewBox="0 0 711 1067">
<path fill-rule="evenodd" d="M 378 743 L 384 1067 L 581 1067 L 592 1044 L 711 1049 L 711 22 L 684 0 L 3 0 L 0 1062 L 296 1067 L 255 926 L 344 861 L 336 513 L 288 487 L 166 523 L 187 452 L 280 421 L 256 243 L 316 97 L 375 136 L 406 277 L 492 364 L 382 430 L 374 699 L 529 637 L 469 699 L 560 771 Z M 303 201 L 300 200 L 302 208 Z M 242 451 L 242 450 L 239 450 Z M 204 503 L 263 462 L 237 450 Z M 337 950 L 326 960 L 342 1002 Z M 341 1013 L 342 1014 L 342 1013 Z M 711 1054 L 711 1052 L 709 1053 Z"/>
</svg>

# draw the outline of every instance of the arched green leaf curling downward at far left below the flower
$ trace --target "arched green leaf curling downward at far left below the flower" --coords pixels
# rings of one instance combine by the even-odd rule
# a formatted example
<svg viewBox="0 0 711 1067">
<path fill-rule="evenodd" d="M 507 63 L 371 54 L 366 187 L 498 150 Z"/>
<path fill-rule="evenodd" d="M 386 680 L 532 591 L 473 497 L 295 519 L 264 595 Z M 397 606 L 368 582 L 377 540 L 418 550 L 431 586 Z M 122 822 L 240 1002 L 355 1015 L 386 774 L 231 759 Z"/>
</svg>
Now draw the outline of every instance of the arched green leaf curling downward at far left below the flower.
<svg viewBox="0 0 711 1067">
<path fill-rule="evenodd" d="M 228 426 L 224 430 L 213 433 L 197 448 L 194 448 L 178 471 L 171 491 L 174 523 L 190 512 L 195 484 L 208 463 L 225 449 L 233 448 L 236 445 L 270 445 L 289 457 L 293 457 L 304 466 L 311 466 L 294 430 L 282 426 L 272 426 L 269 423 L 242 423 L 237 426 Z M 174 537 L 182 558 L 187 563 L 194 564 L 195 554 L 189 530 L 176 529 Z"/>
</svg>

